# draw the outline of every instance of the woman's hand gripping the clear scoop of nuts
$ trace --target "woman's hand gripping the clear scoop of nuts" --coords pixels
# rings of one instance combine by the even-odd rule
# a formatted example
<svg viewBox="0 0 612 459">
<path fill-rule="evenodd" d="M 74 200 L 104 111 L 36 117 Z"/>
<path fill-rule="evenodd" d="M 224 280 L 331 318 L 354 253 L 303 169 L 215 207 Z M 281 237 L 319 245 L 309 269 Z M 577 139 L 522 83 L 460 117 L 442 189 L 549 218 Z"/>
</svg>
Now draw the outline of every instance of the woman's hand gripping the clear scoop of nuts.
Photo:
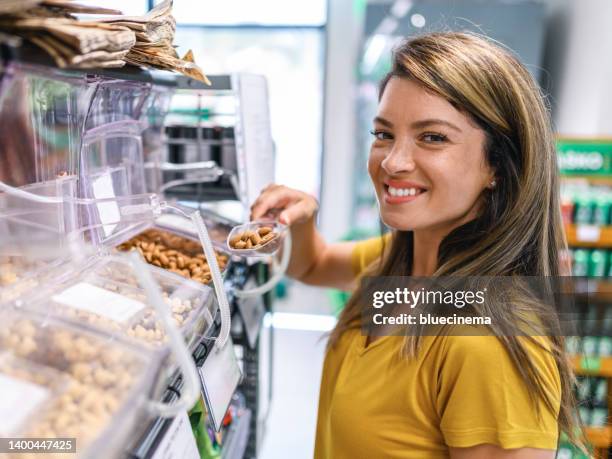
<svg viewBox="0 0 612 459">
<path fill-rule="evenodd" d="M 318 209 L 319 203 L 308 193 L 270 184 L 251 206 L 251 220 L 278 215 L 279 222 L 291 226 L 313 220 Z"/>
</svg>

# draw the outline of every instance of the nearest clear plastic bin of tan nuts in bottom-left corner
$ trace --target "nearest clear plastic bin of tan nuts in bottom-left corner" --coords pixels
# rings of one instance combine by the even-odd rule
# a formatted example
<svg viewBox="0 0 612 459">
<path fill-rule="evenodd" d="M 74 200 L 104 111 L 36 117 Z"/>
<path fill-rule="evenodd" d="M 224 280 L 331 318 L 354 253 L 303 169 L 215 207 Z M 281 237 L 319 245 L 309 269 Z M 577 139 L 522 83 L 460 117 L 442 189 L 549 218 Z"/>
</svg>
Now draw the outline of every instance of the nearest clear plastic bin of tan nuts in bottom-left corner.
<svg viewBox="0 0 612 459">
<path fill-rule="evenodd" d="M 50 395 L 20 422 L 16 436 L 75 437 L 76 455 L 57 457 L 118 457 L 149 417 L 144 401 L 159 369 L 153 354 L 25 311 L 2 310 L 0 320 L 0 348 L 16 357 L 0 359 L 0 371 L 20 371 L 23 380 L 27 369 L 38 369 L 31 380 L 39 386 L 31 392 L 38 399 L 44 398 L 45 378 L 55 380 Z"/>
</svg>

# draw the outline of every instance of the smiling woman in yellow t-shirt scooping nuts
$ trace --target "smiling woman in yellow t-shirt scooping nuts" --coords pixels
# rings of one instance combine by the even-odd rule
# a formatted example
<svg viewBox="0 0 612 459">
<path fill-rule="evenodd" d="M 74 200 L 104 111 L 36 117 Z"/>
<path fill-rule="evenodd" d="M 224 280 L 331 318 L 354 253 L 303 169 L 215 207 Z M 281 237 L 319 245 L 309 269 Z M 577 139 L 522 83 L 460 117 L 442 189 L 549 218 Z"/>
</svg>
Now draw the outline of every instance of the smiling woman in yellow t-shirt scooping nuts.
<svg viewBox="0 0 612 459">
<path fill-rule="evenodd" d="M 564 235 L 549 116 L 509 52 L 463 33 L 404 42 L 381 83 L 372 134 L 368 170 L 392 229 L 387 239 L 326 244 L 316 201 L 283 186 L 254 203 L 254 219 L 283 209 L 292 277 L 354 288 L 364 272 L 559 274 Z M 330 336 L 317 458 L 552 459 L 559 432 L 574 432 L 559 338 L 521 338 L 518 325 L 497 336 L 366 337 L 363 295 L 357 287 Z M 494 319 L 508 313 L 490 308 Z"/>
</svg>

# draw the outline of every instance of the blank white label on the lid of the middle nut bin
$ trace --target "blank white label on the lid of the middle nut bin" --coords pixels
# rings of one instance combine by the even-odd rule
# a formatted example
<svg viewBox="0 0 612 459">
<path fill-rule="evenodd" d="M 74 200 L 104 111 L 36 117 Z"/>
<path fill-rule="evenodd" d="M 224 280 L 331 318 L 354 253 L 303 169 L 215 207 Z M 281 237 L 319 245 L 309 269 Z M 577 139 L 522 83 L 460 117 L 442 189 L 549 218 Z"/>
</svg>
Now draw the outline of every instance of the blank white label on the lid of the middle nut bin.
<svg viewBox="0 0 612 459">
<path fill-rule="evenodd" d="M 87 282 L 79 282 L 54 295 L 56 303 L 91 312 L 115 322 L 126 322 L 145 307 L 140 301 L 100 288 Z"/>
</svg>

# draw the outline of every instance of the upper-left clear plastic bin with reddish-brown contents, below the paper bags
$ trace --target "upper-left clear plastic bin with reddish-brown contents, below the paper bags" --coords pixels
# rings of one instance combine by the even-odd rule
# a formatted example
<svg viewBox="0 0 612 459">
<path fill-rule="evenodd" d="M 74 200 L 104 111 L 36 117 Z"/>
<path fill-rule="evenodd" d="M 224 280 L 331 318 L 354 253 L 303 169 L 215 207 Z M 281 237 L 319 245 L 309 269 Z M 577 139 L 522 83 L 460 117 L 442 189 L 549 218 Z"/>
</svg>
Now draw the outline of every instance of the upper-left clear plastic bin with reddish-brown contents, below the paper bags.
<svg viewBox="0 0 612 459">
<path fill-rule="evenodd" d="M 0 86 L 0 181 L 12 186 L 77 175 L 95 80 L 10 63 Z"/>
</svg>

